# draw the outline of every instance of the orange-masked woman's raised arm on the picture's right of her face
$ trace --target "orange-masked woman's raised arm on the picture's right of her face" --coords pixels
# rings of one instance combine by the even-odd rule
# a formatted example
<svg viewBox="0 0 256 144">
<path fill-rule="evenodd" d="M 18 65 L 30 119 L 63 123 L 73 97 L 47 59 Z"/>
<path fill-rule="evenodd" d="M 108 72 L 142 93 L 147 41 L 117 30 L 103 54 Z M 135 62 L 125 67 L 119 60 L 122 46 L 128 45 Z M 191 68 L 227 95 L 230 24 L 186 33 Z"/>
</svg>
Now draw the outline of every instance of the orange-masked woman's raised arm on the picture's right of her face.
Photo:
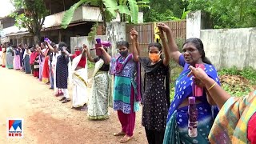
<svg viewBox="0 0 256 144">
<path fill-rule="evenodd" d="M 158 24 L 158 29 L 160 31 L 160 38 L 162 40 L 162 47 L 163 47 L 163 52 L 165 54 L 165 58 L 163 58 L 163 64 L 165 66 L 168 66 L 169 65 L 169 62 L 170 62 L 170 48 L 169 46 L 167 45 L 167 42 L 166 42 L 166 38 L 165 38 L 165 35 L 163 34 L 163 29 L 161 28 L 161 24 Z"/>
</svg>

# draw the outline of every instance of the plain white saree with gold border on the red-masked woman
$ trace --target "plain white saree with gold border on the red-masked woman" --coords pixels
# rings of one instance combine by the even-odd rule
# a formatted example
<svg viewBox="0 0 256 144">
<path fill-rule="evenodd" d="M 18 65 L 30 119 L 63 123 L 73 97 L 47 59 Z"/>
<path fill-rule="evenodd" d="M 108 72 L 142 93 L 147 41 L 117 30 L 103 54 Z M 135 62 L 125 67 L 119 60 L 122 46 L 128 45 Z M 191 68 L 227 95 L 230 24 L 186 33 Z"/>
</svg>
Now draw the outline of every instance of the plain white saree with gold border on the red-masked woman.
<svg viewBox="0 0 256 144">
<path fill-rule="evenodd" d="M 72 74 L 72 80 L 74 82 L 73 87 L 73 107 L 84 106 L 87 102 L 87 86 L 86 82 L 86 69 L 82 68 L 75 70 Z"/>
</svg>

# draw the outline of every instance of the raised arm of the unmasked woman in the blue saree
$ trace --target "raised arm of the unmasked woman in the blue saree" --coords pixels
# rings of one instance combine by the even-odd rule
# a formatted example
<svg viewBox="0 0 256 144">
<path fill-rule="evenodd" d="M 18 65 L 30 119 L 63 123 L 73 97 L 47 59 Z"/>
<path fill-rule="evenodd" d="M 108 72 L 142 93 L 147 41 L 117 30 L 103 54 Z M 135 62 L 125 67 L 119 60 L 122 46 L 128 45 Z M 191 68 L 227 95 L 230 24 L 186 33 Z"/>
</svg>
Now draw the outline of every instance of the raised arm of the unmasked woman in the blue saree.
<svg viewBox="0 0 256 144">
<path fill-rule="evenodd" d="M 182 53 L 178 51 L 178 46 L 174 40 L 174 34 L 172 30 L 170 30 L 170 27 L 164 23 L 158 23 L 158 27 L 162 28 L 162 30 L 166 32 L 168 46 L 170 48 L 170 57 L 173 58 L 175 62 L 179 63 L 179 57 L 182 55 Z"/>
</svg>

